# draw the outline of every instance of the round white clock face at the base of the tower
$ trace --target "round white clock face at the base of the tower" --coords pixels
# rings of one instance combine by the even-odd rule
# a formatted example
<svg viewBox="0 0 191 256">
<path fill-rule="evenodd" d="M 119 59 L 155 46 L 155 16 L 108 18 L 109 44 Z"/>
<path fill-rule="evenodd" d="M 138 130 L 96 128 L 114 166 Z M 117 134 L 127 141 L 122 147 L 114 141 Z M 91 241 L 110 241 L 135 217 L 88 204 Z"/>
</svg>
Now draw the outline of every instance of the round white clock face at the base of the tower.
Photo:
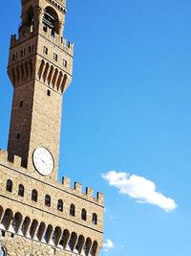
<svg viewBox="0 0 191 256">
<path fill-rule="evenodd" d="M 48 176 L 53 173 L 53 155 L 45 148 L 33 151 L 33 165 L 40 175 Z"/>
</svg>

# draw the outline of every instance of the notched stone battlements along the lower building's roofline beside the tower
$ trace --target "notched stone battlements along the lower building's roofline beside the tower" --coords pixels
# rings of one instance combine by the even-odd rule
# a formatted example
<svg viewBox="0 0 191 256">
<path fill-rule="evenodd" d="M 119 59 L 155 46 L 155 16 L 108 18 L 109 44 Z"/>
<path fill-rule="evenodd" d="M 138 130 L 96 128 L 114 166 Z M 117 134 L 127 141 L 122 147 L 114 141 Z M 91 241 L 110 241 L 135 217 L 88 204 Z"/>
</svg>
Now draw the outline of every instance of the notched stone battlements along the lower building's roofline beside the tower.
<svg viewBox="0 0 191 256">
<path fill-rule="evenodd" d="M 8 151 L 0 150 L 0 162 L 3 162 L 4 164 L 12 165 L 13 168 L 16 170 L 21 170 L 23 172 L 26 172 L 26 169 L 22 167 L 21 165 L 21 157 L 14 155 L 13 160 L 9 161 L 9 154 Z M 23 173 L 22 172 L 22 173 Z M 29 173 L 28 173 L 29 175 Z M 55 184 L 56 187 L 59 189 L 64 189 L 65 191 L 74 194 L 74 196 L 83 198 L 86 200 L 89 200 L 93 203 L 96 203 L 100 206 L 104 206 L 104 195 L 100 192 L 96 193 L 96 197 L 94 197 L 94 190 L 90 187 L 86 187 L 85 193 L 83 192 L 83 186 L 79 182 L 74 182 L 74 186 L 71 186 L 71 179 L 63 176 L 62 182 Z"/>
</svg>

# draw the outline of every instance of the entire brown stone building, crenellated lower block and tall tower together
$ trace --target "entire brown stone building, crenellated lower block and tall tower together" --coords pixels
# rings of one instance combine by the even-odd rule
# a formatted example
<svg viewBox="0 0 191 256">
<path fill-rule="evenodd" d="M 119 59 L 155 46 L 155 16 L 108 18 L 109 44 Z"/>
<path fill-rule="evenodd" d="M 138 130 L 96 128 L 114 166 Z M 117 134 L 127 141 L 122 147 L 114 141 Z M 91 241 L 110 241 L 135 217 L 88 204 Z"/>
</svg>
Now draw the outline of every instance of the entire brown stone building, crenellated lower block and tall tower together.
<svg viewBox="0 0 191 256">
<path fill-rule="evenodd" d="M 22 0 L 11 35 L 13 85 L 8 151 L 0 151 L 0 255 L 96 256 L 103 195 L 57 182 L 63 94 L 73 76 L 73 43 L 63 38 L 65 0 Z"/>
</svg>

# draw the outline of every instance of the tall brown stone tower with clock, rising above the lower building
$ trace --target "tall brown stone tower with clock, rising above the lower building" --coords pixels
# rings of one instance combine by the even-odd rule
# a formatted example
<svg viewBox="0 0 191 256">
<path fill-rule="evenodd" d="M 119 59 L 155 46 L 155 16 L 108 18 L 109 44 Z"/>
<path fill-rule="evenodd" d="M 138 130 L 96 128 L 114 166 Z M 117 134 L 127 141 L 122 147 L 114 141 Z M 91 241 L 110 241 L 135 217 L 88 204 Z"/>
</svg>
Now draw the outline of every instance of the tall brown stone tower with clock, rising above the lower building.
<svg viewBox="0 0 191 256">
<path fill-rule="evenodd" d="M 73 75 L 74 45 L 63 37 L 65 15 L 64 0 L 22 0 L 8 66 L 13 85 L 9 159 L 18 155 L 23 167 L 51 173 L 52 179 L 57 174 L 63 94 Z"/>
</svg>

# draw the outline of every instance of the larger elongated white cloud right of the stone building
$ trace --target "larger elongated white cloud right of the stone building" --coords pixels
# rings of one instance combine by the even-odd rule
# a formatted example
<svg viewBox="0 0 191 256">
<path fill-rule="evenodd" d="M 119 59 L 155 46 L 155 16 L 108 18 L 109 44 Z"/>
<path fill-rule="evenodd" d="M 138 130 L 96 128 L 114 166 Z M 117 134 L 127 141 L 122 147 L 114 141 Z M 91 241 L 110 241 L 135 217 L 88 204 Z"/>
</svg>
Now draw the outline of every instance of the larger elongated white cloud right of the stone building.
<svg viewBox="0 0 191 256">
<path fill-rule="evenodd" d="M 137 198 L 138 202 L 150 203 L 159 206 L 166 212 L 177 209 L 177 204 L 172 198 L 166 198 L 157 192 L 156 184 L 144 177 L 138 175 L 129 175 L 126 173 L 108 172 L 102 175 L 111 186 L 116 187 L 119 193 Z"/>
</svg>

